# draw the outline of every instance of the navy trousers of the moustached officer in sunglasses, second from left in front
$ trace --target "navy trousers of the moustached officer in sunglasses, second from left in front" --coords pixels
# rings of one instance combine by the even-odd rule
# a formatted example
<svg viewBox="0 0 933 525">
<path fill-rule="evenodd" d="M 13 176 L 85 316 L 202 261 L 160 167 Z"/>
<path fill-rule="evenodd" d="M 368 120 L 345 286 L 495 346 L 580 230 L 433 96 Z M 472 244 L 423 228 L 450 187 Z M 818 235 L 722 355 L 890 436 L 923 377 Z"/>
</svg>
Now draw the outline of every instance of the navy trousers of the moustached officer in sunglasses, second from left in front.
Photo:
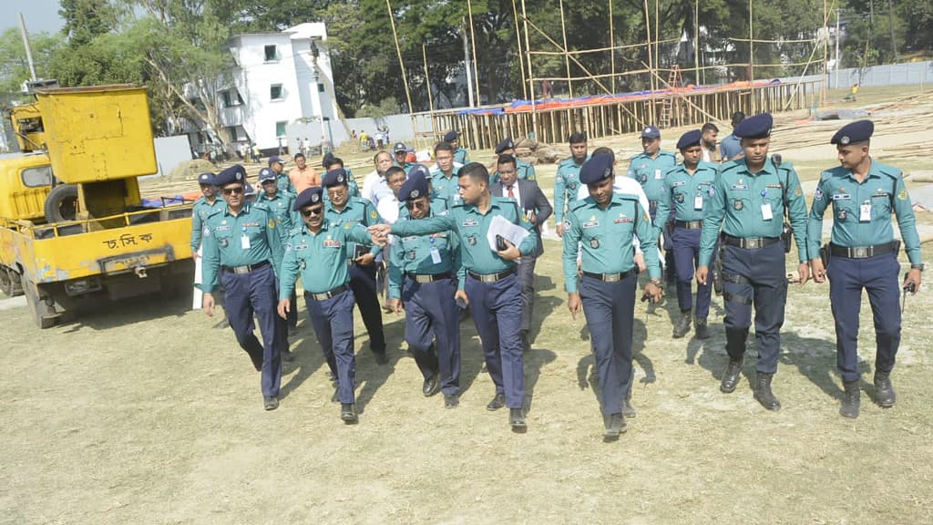
<svg viewBox="0 0 933 525">
<path fill-rule="evenodd" d="M 330 373 L 337 377 L 337 396 L 341 403 L 354 403 L 355 400 L 353 301 L 353 291 L 349 290 L 324 301 L 316 301 L 307 293 L 304 296 L 317 343 L 324 352 Z"/>
</svg>

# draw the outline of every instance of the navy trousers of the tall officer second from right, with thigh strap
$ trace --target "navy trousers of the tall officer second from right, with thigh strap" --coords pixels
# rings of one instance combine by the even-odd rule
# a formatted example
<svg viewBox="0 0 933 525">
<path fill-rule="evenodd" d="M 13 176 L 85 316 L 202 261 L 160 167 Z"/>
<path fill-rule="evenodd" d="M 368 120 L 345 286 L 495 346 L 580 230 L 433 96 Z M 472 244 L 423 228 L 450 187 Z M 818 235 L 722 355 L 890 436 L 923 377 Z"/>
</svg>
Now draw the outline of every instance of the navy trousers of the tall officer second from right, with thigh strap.
<svg viewBox="0 0 933 525">
<path fill-rule="evenodd" d="M 784 243 L 757 249 L 727 246 L 723 250 L 722 274 L 726 351 L 733 361 L 745 354 L 745 337 L 755 305 L 755 342 L 759 351 L 756 369 L 774 374 L 787 303 Z"/>
</svg>

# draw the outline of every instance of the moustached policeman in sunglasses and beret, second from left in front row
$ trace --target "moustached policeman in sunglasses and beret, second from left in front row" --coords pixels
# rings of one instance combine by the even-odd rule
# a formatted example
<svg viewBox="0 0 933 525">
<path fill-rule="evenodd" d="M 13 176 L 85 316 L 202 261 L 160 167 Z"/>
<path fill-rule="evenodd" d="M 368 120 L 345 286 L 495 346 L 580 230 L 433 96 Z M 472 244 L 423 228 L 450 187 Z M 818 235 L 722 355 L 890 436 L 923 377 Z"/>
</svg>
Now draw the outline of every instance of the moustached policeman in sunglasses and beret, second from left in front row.
<svg viewBox="0 0 933 525">
<path fill-rule="evenodd" d="M 300 272 L 314 335 L 324 351 L 330 375 L 337 379 L 341 419 L 351 424 L 357 421 L 354 292 L 346 260 L 353 255 L 355 243 L 369 242 L 369 234 L 358 223 L 344 226 L 327 220 L 323 193 L 315 186 L 301 192 L 295 200 L 294 207 L 300 212 L 303 224 L 292 230 L 285 247 L 278 311 L 285 318 L 296 307 L 289 297 Z"/>
</svg>

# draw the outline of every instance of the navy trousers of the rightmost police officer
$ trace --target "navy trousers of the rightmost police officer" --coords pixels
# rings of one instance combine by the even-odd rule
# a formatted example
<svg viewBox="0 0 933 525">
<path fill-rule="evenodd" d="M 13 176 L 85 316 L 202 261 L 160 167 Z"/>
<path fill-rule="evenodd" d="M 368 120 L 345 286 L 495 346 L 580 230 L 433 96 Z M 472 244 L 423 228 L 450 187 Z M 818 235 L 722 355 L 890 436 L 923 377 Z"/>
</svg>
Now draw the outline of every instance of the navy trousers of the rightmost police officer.
<svg viewBox="0 0 933 525">
<path fill-rule="evenodd" d="M 894 368 L 900 346 L 900 305 L 898 273 L 900 264 L 893 253 L 870 259 L 830 257 L 829 299 L 836 319 L 836 360 L 843 381 L 855 381 L 858 374 L 858 312 L 862 289 L 869 293 L 874 318 L 875 370 L 887 373 Z"/>
</svg>

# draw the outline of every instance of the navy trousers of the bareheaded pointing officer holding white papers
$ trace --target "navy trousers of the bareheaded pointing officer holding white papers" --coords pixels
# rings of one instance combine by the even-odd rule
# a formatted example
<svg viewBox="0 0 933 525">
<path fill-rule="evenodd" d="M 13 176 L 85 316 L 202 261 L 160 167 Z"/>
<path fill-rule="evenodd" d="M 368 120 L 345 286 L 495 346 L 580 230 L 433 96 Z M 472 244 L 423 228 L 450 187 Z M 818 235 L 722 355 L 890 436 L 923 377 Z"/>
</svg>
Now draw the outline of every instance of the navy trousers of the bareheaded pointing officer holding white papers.
<svg viewBox="0 0 933 525">
<path fill-rule="evenodd" d="M 522 283 L 515 274 L 496 282 L 466 277 L 465 290 L 495 392 L 506 394 L 509 408 L 522 408 Z"/>
</svg>

